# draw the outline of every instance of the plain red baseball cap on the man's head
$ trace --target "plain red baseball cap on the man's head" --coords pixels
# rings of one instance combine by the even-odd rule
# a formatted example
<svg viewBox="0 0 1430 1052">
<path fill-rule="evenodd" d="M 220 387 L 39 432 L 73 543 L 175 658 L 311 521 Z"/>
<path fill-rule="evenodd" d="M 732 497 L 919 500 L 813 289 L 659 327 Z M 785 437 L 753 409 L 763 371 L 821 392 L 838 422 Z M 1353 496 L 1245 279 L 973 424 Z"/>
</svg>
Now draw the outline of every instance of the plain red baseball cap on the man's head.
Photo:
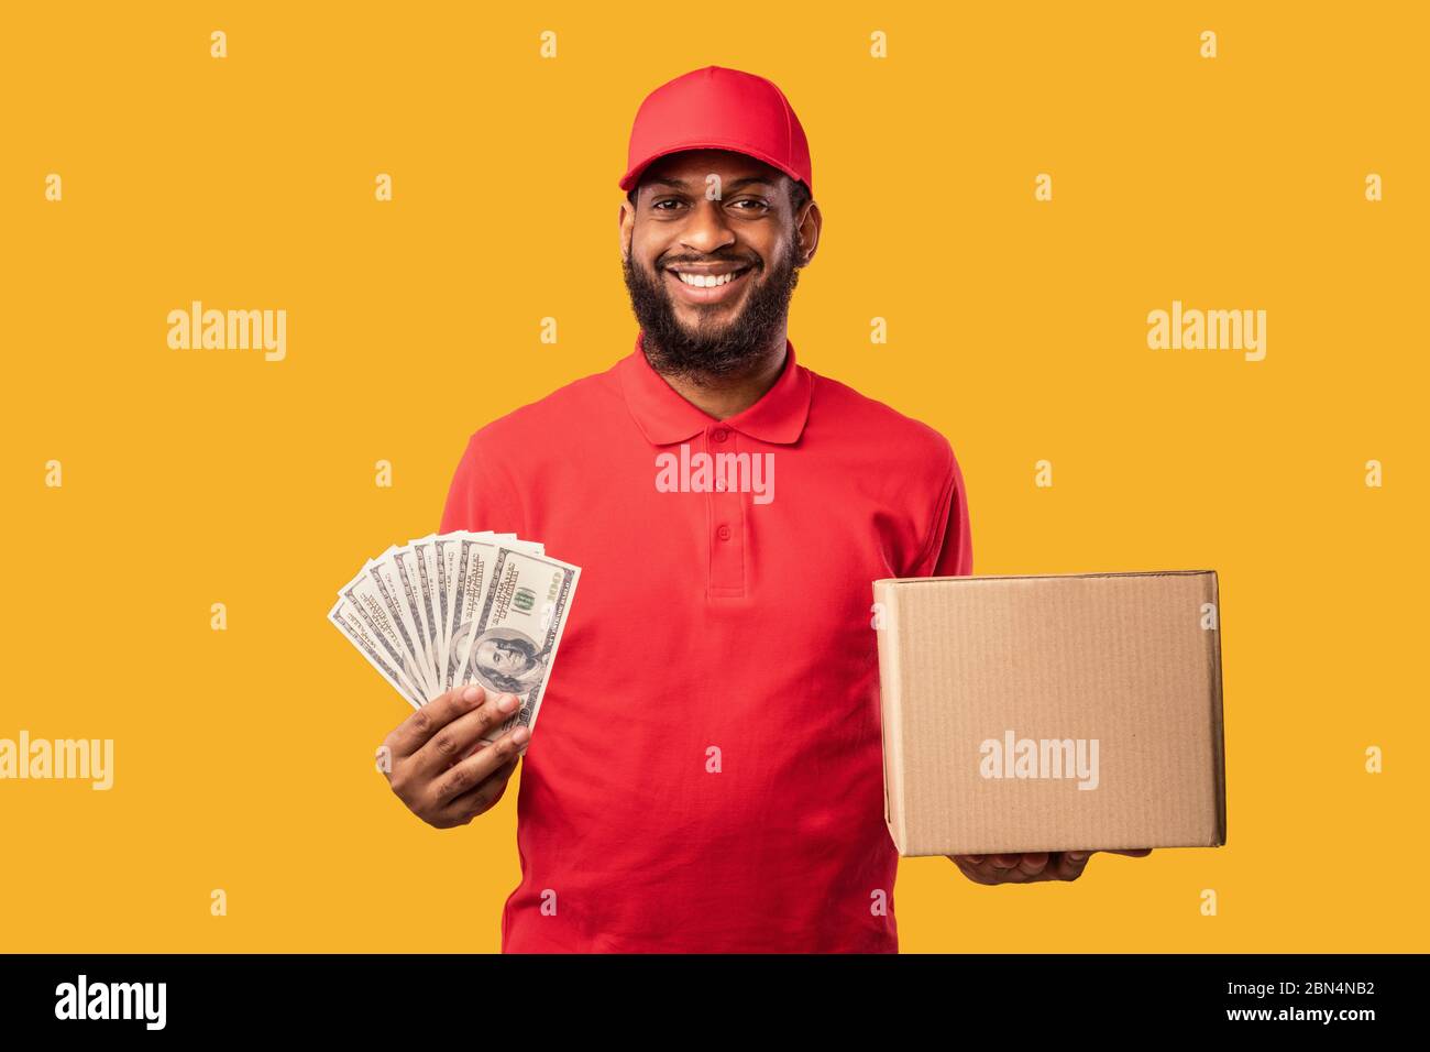
<svg viewBox="0 0 1430 1052">
<path fill-rule="evenodd" d="M 706 66 L 651 92 L 631 126 L 621 189 L 631 190 L 652 162 L 681 150 L 734 150 L 774 165 L 814 195 L 809 142 L 799 117 L 772 82 Z"/>
</svg>

